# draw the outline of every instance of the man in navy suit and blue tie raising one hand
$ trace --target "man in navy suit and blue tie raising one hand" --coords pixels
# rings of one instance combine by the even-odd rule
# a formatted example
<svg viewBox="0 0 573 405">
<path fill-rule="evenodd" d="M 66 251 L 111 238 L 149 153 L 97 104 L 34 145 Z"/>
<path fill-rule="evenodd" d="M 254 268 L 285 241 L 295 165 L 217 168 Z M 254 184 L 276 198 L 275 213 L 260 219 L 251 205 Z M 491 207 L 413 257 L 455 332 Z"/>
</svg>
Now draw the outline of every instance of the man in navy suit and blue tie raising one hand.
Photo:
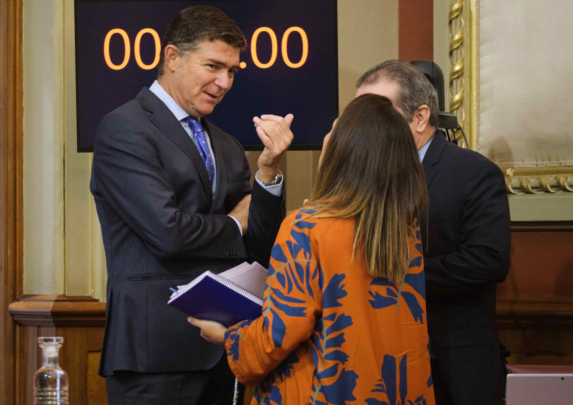
<svg viewBox="0 0 573 405">
<path fill-rule="evenodd" d="M 100 375 L 110 404 L 231 403 L 224 348 L 167 305 L 170 287 L 246 259 L 268 264 L 284 217 L 278 162 L 292 114 L 255 117 L 265 149 L 253 188 L 238 141 L 203 118 L 233 84 L 246 46 L 215 7 L 180 11 L 158 80 L 97 129 L 91 192 L 108 268 Z"/>
</svg>

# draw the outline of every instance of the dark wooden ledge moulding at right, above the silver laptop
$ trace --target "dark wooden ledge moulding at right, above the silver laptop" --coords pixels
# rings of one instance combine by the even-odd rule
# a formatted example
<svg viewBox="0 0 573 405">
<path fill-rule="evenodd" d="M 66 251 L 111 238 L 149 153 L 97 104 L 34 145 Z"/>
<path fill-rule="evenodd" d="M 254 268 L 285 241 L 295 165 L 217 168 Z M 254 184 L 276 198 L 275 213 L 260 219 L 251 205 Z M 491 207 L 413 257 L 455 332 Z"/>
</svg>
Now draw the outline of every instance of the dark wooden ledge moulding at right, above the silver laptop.
<svg viewBox="0 0 573 405">
<path fill-rule="evenodd" d="M 500 297 L 497 326 L 500 329 L 573 330 L 573 297 Z"/>
</svg>

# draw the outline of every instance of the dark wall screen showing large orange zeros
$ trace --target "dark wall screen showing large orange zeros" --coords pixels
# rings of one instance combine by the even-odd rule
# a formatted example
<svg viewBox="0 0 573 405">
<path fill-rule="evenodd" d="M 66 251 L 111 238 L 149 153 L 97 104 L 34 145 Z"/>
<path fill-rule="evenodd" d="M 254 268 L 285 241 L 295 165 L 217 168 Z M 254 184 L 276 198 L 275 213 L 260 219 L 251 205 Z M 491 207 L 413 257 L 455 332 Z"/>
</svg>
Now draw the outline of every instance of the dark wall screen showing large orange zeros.
<svg viewBox="0 0 573 405">
<path fill-rule="evenodd" d="M 248 42 L 207 120 L 262 150 L 253 117 L 292 113 L 291 149 L 320 149 L 338 115 L 336 0 L 75 0 L 78 152 L 92 151 L 101 118 L 151 86 L 168 24 L 194 5 L 223 10 Z"/>
</svg>

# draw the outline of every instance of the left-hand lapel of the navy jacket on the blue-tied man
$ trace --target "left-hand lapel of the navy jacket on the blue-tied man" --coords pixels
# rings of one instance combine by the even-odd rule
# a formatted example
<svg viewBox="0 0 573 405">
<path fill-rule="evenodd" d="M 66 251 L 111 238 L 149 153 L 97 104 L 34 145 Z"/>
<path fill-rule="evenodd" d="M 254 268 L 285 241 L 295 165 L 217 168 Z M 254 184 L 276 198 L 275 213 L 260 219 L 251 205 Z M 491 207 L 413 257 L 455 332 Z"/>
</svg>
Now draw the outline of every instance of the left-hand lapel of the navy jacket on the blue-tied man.
<svg viewBox="0 0 573 405">
<path fill-rule="evenodd" d="M 199 178 L 201 178 L 203 189 L 205 189 L 205 193 L 207 196 L 209 196 L 209 200 L 211 200 L 213 198 L 211 182 L 209 181 L 209 175 L 207 174 L 205 163 L 203 163 L 203 160 L 199 155 L 199 151 L 197 150 L 197 146 L 195 146 L 195 142 L 191 140 L 187 132 L 185 132 L 185 129 L 183 129 L 183 126 L 181 126 L 179 121 L 176 120 L 175 116 L 173 113 L 171 113 L 167 106 L 163 104 L 163 102 L 159 100 L 155 94 L 150 92 L 149 89 L 143 88 L 136 98 L 144 109 L 152 113 L 150 116 L 150 121 L 161 132 L 163 132 L 165 136 L 170 138 L 170 140 L 173 141 L 175 145 L 179 146 L 179 148 L 183 150 L 187 156 L 189 156 L 193 162 L 193 165 L 195 166 L 195 169 L 197 169 Z"/>
</svg>

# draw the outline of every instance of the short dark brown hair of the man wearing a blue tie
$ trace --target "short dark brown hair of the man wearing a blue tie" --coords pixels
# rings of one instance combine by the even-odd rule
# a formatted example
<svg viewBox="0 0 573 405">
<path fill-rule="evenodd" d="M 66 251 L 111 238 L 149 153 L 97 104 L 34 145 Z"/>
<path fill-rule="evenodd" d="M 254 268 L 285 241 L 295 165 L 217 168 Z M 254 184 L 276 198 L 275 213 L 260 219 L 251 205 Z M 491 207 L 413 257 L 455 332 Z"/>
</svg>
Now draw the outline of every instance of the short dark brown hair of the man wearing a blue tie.
<svg viewBox="0 0 573 405">
<path fill-rule="evenodd" d="M 159 59 L 158 77 L 163 76 L 165 47 L 175 45 L 183 54 L 199 47 L 203 39 L 221 41 L 241 51 L 247 43 L 237 24 L 223 11 L 213 6 L 191 6 L 177 13 L 163 37 Z"/>
</svg>

